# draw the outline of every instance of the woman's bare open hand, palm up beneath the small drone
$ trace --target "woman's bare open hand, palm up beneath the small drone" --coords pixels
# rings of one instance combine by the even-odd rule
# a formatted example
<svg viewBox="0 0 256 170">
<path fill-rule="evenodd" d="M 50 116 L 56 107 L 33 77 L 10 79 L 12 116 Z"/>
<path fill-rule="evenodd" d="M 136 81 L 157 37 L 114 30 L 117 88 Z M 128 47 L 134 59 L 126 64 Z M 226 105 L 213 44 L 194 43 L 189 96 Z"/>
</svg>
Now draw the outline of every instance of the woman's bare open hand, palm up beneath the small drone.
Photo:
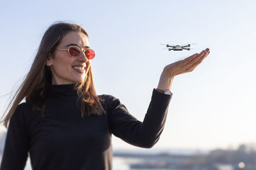
<svg viewBox="0 0 256 170">
<path fill-rule="evenodd" d="M 209 53 L 209 48 L 206 48 L 200 53 L 195 53 L 184 60 L 179 60 L 165 66 L 163 73 L 161 74 L 157 89 L 171 90 L 174 76 L 193 71 L 195 67 L 197 67 Z"/>
</svg>

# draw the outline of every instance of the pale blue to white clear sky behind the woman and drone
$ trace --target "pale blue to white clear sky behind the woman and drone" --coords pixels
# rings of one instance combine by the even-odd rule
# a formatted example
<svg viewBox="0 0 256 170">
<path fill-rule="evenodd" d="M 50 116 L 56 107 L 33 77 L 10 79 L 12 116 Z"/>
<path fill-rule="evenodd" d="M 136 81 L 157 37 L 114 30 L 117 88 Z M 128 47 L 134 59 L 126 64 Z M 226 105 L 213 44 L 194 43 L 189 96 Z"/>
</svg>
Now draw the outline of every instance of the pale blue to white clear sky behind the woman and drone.
<svg viewBox="0 0 256 170">
<path fill-rule="evenodd" d="M 97 94 L 117 97 L 141 121 L 163 67 L 210 48 L 193 72 L 175 77 L 164 131 L 154 148 L 256 143 L 255 6 L 253 0 L 2 0 L 0 115 L 10 91 L 28 73 L 47 27 L 64 20 L 89 34 Z M 196 45 L 168 52 L 161 43 Z M 136 149 L 115 137 L 113 148 Z"/>
</svg>

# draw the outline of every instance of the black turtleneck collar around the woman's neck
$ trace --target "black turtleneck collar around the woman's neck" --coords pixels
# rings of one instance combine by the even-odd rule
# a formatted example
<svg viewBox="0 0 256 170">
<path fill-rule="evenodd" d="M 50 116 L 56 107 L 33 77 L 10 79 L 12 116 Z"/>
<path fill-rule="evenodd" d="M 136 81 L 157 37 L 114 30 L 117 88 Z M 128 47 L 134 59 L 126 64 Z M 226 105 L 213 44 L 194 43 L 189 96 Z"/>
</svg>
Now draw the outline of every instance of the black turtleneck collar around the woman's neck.
<svg viewBox="0 0 256 170">
<path fill-rule="evenodd" d="M 77 96 L 74 84 L 50 85 L 47 90 L 47 97 L 71 97 Z"/>
</svg>

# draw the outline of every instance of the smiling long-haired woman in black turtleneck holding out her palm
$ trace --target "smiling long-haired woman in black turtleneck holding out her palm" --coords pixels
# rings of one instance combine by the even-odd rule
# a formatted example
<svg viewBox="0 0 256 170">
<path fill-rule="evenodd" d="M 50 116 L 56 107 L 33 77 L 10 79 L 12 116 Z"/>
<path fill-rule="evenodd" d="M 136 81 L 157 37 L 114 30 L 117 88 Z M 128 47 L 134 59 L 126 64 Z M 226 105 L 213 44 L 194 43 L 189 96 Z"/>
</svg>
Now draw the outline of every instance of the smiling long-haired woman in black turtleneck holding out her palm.
<svg viewBox="0 0 256 170">
<path fill-rule="evenodd" d="M 193 71 L 208 54 L 209 48 L 164 67 L 140 122 L 115 97 L 97 96 L 86 31 L 51 25 L 3 120 L 6 128 L 10 124 L 0 169 L 24 169 L 28 152 L 36 170 L 111 169 L 111 134 L 151 148 L 163 131 L 173 77 Z"/>
</svg>

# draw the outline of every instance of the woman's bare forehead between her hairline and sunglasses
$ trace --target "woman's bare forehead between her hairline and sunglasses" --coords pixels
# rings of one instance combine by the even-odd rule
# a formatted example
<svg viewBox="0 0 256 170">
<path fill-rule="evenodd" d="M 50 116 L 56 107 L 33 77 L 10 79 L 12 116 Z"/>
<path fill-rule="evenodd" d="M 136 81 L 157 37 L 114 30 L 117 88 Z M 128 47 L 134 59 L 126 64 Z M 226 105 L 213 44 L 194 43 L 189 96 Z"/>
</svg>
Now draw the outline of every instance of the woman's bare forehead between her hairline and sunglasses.
<svg viewBox="0 0 256 170">
<path fill-rule="evenodd" d="M 70 43 L 83 46 L 89 46 L 88 38 L 82 32 L 70 31 L 62 39 L 60 45 L 68 45 Z"/>
</svg>

